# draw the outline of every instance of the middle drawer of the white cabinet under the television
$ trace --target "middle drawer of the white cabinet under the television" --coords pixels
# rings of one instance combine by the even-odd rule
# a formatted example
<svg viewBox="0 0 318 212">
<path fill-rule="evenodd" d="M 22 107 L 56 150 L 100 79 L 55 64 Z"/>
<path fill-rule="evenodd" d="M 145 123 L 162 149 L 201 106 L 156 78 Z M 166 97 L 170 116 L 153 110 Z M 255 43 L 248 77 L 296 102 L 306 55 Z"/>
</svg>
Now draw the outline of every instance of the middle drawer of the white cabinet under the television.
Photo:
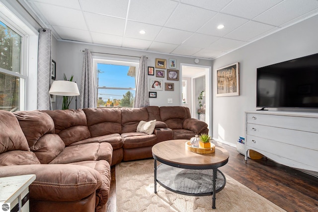
<svg viewBox="0 0 318 212">
<path fill-rule="evenodd" d="M 248 123 L 246 134 L 318 151 L 318 133 Z"/>
</svg>

